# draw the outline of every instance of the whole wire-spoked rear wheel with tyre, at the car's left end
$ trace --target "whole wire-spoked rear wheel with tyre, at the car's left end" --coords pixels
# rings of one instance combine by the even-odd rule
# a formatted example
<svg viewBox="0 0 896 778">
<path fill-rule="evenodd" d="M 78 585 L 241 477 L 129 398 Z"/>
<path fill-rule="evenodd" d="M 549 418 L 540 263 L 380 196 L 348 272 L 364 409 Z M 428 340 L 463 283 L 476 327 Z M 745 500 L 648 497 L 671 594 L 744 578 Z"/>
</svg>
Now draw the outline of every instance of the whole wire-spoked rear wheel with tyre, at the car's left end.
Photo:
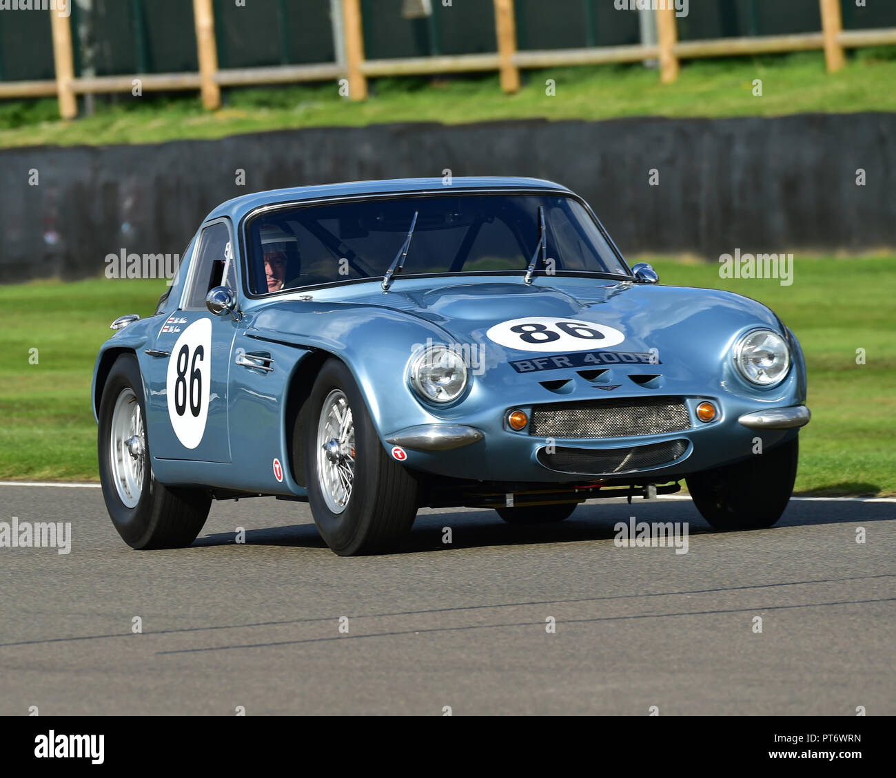
<svg viewBox="0 0 896 778">
<path fill-rule="evenodd" d="M 211 495 L 173 489 L 152 474 L 143 381 L 134 355 L 112 365 L 99 403 L 99 480 L 112 524 L 135 549 L 193 543 L 209 515 Z"/>
</svg>

